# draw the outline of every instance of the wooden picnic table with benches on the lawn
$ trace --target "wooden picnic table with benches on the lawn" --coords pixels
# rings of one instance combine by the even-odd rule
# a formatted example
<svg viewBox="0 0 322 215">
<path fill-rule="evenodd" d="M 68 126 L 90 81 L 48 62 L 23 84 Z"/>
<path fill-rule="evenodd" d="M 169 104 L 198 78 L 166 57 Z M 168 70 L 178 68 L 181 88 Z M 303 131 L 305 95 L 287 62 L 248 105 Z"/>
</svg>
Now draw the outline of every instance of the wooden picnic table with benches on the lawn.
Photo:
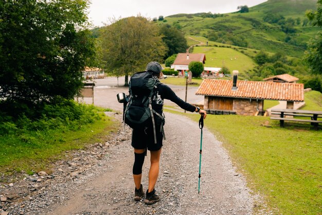
<svg viewBox="0 0 322 215">
<path fill-rule="evenodd" d="M 308 111 L 308 110 L 294 110 L 294 109 L 272 109 L 272 115 L 279 115 L 279 117 L 271 117 L 271 119 L 280 120 L 280 127 L 284 127 L 284 121 L 299 121 L 311 122 L 311 124 L 318 129 L 318 123 L 322 123 L 318 118 L 322 118 L 322 111 Z M 309 117 L 310 119 L 286 118 L 285 116 L 299 116 Z"/>
</svg>

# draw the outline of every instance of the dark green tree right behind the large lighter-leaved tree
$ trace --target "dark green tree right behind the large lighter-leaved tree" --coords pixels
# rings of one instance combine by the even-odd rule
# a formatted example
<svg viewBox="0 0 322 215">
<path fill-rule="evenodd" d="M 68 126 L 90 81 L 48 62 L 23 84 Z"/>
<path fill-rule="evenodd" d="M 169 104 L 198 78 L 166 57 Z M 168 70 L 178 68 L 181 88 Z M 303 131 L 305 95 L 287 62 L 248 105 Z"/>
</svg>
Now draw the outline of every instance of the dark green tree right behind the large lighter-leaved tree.
<svg viewBox="0 0 322 215">
<path fill-rule="evenodd" d="M 188 45 L 183 32 L 173 26 L 165 24 L 160 27 L 160 33 L 164 35 L 162 40 L 168 47 L 164 59 L 167 59 L 176 53 L 186 52 Z"/>
</svg>

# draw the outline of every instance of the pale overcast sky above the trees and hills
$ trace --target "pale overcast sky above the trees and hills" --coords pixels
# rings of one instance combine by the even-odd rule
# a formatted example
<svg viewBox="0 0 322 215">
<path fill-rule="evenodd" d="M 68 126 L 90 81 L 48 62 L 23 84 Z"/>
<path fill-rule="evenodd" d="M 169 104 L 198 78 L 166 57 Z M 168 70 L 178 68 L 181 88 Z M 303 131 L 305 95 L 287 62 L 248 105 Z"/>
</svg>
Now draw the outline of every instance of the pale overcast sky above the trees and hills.
<svg viewBox="0 0 322 215">
<path fill-rule="evenodd" d="M 237 10 L 240 5 L 252 7 L 267 0 L 92 0 L 89 17 L 95 26 L 109 23 L 110 18 L 129 17 L 141 14 L 153 19 L 159 15 L 168 16 L 177 13 L 228 13 Z"/>
</svg>

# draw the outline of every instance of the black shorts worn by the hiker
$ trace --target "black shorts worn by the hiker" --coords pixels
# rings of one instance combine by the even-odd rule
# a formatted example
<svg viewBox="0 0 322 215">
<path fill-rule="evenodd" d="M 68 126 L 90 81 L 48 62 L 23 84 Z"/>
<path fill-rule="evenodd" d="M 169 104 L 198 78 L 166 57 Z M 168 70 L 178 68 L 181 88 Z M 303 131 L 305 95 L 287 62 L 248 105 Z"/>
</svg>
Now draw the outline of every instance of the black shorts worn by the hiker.
<svg viewBox="0 0 322 215">
<path fill-rule="evenodd" d="M 133 129 L 132 147 L 134 149 L 146 149 L 149 151 L 158 151 L 162 148 L 163 133 L 160 132 L 160 126 L 156 126 L 156 144 L 154 143 L 153 128 Z"/>
</svg>

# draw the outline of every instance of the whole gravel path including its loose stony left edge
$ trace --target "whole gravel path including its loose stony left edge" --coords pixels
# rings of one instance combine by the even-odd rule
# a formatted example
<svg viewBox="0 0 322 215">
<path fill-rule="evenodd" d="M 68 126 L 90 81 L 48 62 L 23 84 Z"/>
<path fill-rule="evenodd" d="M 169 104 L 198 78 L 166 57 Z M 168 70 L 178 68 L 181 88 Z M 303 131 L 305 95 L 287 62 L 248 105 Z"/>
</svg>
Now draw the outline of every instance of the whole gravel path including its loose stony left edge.
<svg viewBox="0 0 322 215">
<path fill-rule="evenodd" d="M 109 114 L 121 120 L 120 114 Z M 133 200 L 131 130 L 127 127 L 124 134 L 121 127 L 105 144 L 71 152 L 68 159 L 59 160 L 51 175 L 27 176 L 13 186 L 0 185 L 0 194 L 8 196 L 7 202 L 0 203 L 0 214 L 253 214 L 255 196 L 221 142 L 206 127 L 207 119 L 200 194 L 198 122 L 166 113 L 167 139 L 155 187 L 160 202 L 148 206 Z M 142 177 L 145 190 L 149 159 L 148 153 Z"/>
</svg>

